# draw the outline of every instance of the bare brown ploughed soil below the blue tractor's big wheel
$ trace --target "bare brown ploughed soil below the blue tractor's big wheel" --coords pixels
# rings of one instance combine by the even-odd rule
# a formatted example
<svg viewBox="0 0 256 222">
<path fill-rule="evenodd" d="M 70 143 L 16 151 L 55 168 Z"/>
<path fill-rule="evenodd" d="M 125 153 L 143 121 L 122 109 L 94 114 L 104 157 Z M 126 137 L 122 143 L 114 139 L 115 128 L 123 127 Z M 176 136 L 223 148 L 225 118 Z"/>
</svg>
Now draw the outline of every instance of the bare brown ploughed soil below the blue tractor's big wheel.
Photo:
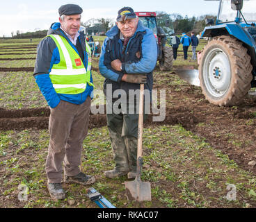
<svg viewBox="0 0 256 222">
<path fill-rule="evenodd" d="M 168 74 L 170 78 L 171 74 Z M 205 100 L 200 87 L 189 84 L 170 86 L 170 81 L 166 79 L 163 85 L 155 85 L 156 89 L 169 89 L 166 99 L 175 107 L 173 113 L 166 112 L 166 119 L 179 117 L 179 123 L 186 130 L 205 138 L 230 160 L 256 173 L 256 167 L 248 166 L 248 162 L 256 159 L 256 98 L 247 97 L 238 107 L 219 107 Z M 177 89 L 180 90 L 177 92 Z M 184 112 L 179 112 L 182 109 Z"/>
</svg>

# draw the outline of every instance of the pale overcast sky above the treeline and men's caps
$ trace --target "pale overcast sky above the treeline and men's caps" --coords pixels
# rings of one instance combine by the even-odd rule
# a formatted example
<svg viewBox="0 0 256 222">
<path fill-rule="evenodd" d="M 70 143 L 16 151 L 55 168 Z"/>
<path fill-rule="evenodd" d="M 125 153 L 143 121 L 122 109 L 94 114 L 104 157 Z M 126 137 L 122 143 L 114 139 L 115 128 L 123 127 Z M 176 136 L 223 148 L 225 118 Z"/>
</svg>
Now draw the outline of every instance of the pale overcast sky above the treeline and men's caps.
<svg viewBox="0 0 256 222">
<path fill-rule="evenodd" d="M 130 6 L 135 11 L 163 11 L 169 14 L 179 13 L 182 16 L 198 17 L 216 15 L 218 1 L 204 0 L 0 0 L 0 36 L 10 36 L 17 30 L 26 33 L 48 29 L 53 22 L 58 22 L 58 8 L 66 3 L 76 3 L 83 8 L 82 22 L 101 17 L 115 19 L 118 10 Z"/>
</svg>

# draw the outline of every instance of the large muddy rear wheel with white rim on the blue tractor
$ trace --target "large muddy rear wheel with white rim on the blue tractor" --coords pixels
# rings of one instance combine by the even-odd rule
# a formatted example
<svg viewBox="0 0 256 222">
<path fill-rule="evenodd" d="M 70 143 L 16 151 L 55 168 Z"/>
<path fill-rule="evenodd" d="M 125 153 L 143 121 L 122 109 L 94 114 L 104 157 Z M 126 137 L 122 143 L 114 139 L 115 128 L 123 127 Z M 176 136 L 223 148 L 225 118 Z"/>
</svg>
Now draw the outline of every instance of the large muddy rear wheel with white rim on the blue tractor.
<svg viewBox="0 0 256 222">
<path fill-rule="evenodd" d="M 214 37 L 202 52 L 199 78 L 202 93 L 214 105 L 239 105 L 250 89 L 253 66 L 243 44 L 234 37 Z"/>
</svg>

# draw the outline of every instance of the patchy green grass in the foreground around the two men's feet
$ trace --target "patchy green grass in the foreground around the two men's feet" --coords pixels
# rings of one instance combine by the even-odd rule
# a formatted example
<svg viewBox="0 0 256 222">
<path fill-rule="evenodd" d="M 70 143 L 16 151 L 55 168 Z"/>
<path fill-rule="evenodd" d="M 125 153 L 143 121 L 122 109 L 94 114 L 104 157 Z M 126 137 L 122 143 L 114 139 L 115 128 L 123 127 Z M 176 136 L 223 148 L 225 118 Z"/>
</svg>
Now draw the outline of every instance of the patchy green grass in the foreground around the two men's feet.
<svg viewBox="0 0 256 222">
<path fill-rule="evenodd" d="M 96 207 L 86 198 L 82 185 L 63 185 L 67 198 L 54 202 L 46 188 L 45 159 L 47 130 L 1 132 L 0 207 Z M 114 167 L 111 142 L 106 127 L 89 130 L 83 142 L 83 170 L 96 176 L 93 187 L 116 207 L 250 207 L 255 206 L 256 178 L 241 169 L 205 139 L 182 126 L 145 128 L 142 180 L 151 182 L 152 202 L 127 200 L 125 176 L 104 178 Z M 29 188 L 26 201 L 17 200 L 18 186 Z M 227 200 L 228 185 L 237 189 L 236 200 Z M 75 200 L 68 205 L 67 199 Z"/>
</svg>

